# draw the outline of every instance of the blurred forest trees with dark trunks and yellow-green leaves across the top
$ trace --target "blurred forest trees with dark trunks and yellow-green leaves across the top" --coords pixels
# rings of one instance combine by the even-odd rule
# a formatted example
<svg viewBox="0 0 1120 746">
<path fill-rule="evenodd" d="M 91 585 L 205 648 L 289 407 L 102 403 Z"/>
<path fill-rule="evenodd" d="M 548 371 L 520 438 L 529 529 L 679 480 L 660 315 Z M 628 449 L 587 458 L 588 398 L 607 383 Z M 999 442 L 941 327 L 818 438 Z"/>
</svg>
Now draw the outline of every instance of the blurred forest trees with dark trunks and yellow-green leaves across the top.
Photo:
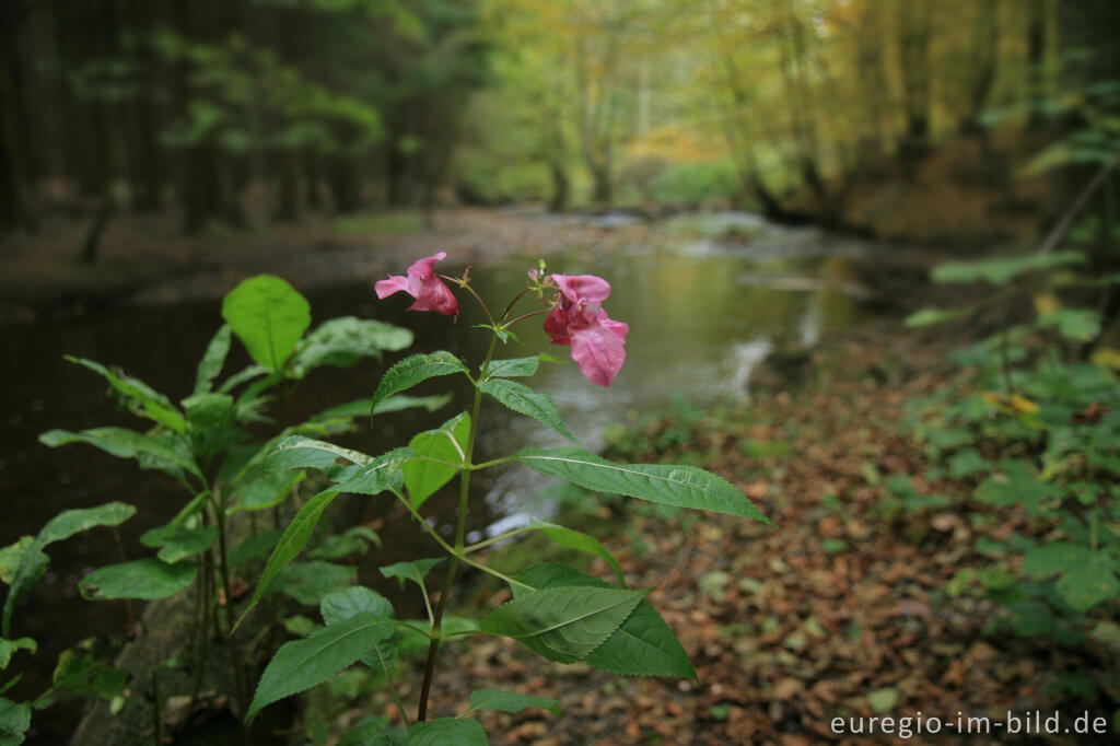
<svg viewBox="0 0 1120 746">
<path fill-rule="evenodd" d="M 241 226 L 246 201 L 274 221 L 722 199 L 842 222 L 860 185 L 921 181 L 949 144 L 1014 199 L 1024 168 L 1107 160 L 1120 133 L 1109 0 L 8 0 L 0 13 L 6 229 L 75 205 Z"/>
</svg>

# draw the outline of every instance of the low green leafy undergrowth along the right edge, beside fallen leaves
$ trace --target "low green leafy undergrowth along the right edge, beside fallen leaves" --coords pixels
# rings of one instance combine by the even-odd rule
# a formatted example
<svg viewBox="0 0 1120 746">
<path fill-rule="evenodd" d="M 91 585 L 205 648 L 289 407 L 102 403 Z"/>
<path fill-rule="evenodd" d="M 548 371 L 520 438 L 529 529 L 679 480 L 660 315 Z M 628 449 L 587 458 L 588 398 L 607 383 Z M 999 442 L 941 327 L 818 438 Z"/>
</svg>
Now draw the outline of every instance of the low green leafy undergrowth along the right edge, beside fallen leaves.
<svg viewBox="0 0 1120 746">
<path fill-rule="evenodd" d="M 989 308 L 1032 297 L 1035 319 L 954 353 L 964 366 L 955 384 L 912 402 L 915 433 L 944 474 L 973 486 L 978 514 L 1027 529 L 977 547 L 1021 561 L 962 570 L 949 591 L 979 584 L 1006 612 L 992 630 L 1065 644 L 1094 634 L 1120 608 L 1120 381 L 1111 351 L 1094 353 L 1107 320 L 1098 307 L 1067 308 L 1058 299 L 1070 288 L 1109 292 L 1117 279 L 1074 274 L 1084 259 L 1040 252 L 935 269 L 936 281 L 995 286 L 982 304 Z M 927 309 L 908 323 L 978 310 Z"/>
</svg>

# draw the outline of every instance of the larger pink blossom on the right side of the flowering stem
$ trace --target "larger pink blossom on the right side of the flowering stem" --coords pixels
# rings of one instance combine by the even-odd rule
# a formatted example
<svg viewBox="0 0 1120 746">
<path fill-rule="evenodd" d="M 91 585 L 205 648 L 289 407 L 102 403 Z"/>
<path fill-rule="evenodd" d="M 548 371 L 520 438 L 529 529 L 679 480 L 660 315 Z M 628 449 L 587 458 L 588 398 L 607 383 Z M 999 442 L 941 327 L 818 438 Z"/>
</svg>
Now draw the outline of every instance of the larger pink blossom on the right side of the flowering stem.
<svg viewBox="0 0 1120 746">
<path fill-rule="evenodd" d="M 552 274 L 560 302 L 544 319 L 544 330 L 558 345 L 571 345 L 571 357 L 591 383 L 609 386 L 626 360 L 629 326 L 607 318 L 601 304 L 610 285 L 594 274 Z"/>
</svg>

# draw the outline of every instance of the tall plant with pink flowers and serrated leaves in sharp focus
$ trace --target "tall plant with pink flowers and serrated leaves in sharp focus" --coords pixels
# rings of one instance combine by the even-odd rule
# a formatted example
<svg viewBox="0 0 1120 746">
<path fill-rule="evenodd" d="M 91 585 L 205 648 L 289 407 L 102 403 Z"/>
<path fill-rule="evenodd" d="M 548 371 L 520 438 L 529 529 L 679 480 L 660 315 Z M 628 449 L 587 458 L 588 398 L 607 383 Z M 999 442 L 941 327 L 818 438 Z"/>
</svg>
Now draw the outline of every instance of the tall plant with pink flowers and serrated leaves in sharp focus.
<svg viewBox="0 0 1120 746">
<path fill-rule="evenodd" d="M 302 436 L 281 440 L 265 460 L 276 470 L 314 467 L 333 483 L 308 501 L 288 525 L 269 559 L 245 614 L 307 544 L 324 511 L 340 494 L 389 493 L 430 534 L 446 557 L 418 559 L 381 568 L 385 577 L 403 584 L 412 581 L 423 597 L 428 619 L 396 619 L 391 603 L 375 591 L 351 587 L 323 598 L 325 626 L 302 640 L 289 642 L 264 670 L 245 714 L 252 718 L 261 708 L 284 697 L 327 681 L 361 661 L 390 687 L 404 726 L 389 727 L 384 718 L 363 726 L 362 743 L 377 744 L 485 744 L 482 726 L 469 716 L 478 710 L 516 712 L 526 707 L 557 710 L 553 700 L 496 690 L 470 696 L 469 707 L 456 718 L 429 719 L 429 694 L 437 658 L 445 641 L 478 634 L 512 637 L 543 658 L 559 663 L 584 663 L 624 675 L 694 678 L 696 671 L 680 642 L 660 614 L 645 599 L 648 589 L 629 588 L 614 557 L 595 538 L 553 523 L 535 523 L 501 535 L 467 544 L 467 509 L 470 478 L 475 472 L 504 464 L 521 464 L 540 474 L 560 477 L 592 493 L 622 495 L 663 505 L 727 513 L 769 523 L 730 483 L 691 466 L 614 464 L 580 447 L 569 432 L 547 393 L 515 381 L 532 376 L 541 356 L 498 358 L 498 343 L 513 335 L 512 327 L 532 317 L 545 316 L 544 329 L 557 345 L 570 346 L 580 372 L 592 383 L 608 386 L 626 357 L 628 326 L 607 316 L 603 302 L 610 286 L 594 276 L 549 274 L 543 262 L 529 272 L 528 287 L 495 315 L 470 285 L 469 269 L 463 277 L 438 274 L 435 264 L 444 253 L 414 262 L 407 276 L 376 283 L 380 298 L 405 292 L 416 300 L 411 310 L 427 310 L 457 317 L 459 302 L 448 283 L 482 307 L 491 333 L 485 357 L 472 367 L 448 352 L 414 354 L 385 372 L 371 407 L 401 394 L 435 376 L 463 375 L 474 388 L 469 412 L 464 411 L 435 430 L 416 435 L 405 447 L 376 457 Z M 536 298 L 541 307 L 520 316 L 514 308 Z M 573 446 L 524 448 L 492 460 L 475 460 L 477 423 L 484 401 L 496 400 L 519 414 L 552 428 Z M 440 487 L 459 476 L 459 500 L 455 535 L 447 541 L 421 514 L 424 502 Z M 540 531 L 553 542 L 604 560 L 618 585 L 586 575 L 571 567 L 544 562 L 516 575 L 505 575 L 482 558 L 484 550 L 517 533 Z M 431 594 L 428 572 L 447 560 L 442 588 Z M 455 580 L 463 566 L 489 574 L 507 584 L 513 598 L 480 621 L 448 615 Z M 416 720 L 409 721 L 394 677 L 399 675 L 399 652 L 416 649 L 424 641 L 427 658 L 420 682 Z M 405 641 L 409 642 L 405 645 Z M 368 728 L 368 731 L 365 731 Z M 353 734 L 351 734 L 353 735 Z M 356 742 L 355 742 L 356 743 Z"/>
</svg>

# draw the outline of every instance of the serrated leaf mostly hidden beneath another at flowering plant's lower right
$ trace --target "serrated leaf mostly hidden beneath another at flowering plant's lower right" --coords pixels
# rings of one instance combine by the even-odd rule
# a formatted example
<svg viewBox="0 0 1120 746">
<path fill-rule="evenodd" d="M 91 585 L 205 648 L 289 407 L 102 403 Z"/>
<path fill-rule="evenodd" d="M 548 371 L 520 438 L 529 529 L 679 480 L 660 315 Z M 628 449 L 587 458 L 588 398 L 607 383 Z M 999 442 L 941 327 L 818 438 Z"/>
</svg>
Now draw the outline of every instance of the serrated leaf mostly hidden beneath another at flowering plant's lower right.
<svg viewBox="0 0 1120 746">
<path fill-rule="evenodd" d="M 534 565 L 521 572 L 516 579 L 535 589 L 571 586 L 612 587 L 605 580 L 557 562 Z M 526 593 L 519 586 L 513 586 L 513 590 L 515 597 Z M 622 626 L 584 662 L 600 671 L 628 677 L 697 678 L 688 653 L 657 614 L 657 609 L 647 600 L 638 604 Z"/>
</svg>

